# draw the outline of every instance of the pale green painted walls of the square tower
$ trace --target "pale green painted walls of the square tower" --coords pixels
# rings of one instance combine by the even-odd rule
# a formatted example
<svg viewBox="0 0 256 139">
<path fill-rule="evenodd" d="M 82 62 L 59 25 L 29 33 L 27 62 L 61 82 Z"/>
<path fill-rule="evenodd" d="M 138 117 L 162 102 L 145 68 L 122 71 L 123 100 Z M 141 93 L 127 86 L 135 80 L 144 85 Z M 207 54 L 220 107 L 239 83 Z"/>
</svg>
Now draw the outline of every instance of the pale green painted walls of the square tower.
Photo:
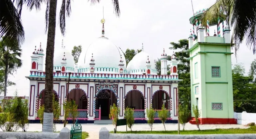
<svg viewBox="0 0 256 139">
<path fill-rule="evenodd" d="M 230 43 L 223 43 L 222 37 L 209 36 L 204 40 L 205 42 L 199 43 L 194 41 L 194 46 L 188 50 L 191 104 L 196 105 L 198 98 L 202 118 L 234 118 Z M 212 77 L 212 66 L 220 67 L 220 77 Z M 198 94 L 195 94 L 196 86 Z M 212 110 L 212 103 L 222 103 L 222 110 Z"/>
</svg>

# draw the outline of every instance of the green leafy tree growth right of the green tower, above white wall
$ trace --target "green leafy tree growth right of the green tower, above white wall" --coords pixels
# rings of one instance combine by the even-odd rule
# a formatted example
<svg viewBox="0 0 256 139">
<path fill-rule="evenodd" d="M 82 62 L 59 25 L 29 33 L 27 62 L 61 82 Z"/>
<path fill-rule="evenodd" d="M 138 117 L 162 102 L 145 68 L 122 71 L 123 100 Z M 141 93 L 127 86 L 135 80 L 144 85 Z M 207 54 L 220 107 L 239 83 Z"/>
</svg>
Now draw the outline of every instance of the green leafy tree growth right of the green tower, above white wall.
<svg viewBox="0 0 256 139">
<path fill-rule="evenodd" d="M 241 64 L 232 69 L 234 111 L 247 113 L 256 112 L 256 85 L 252 76 L 245 76 L 245 68 Z"/>
</svg>

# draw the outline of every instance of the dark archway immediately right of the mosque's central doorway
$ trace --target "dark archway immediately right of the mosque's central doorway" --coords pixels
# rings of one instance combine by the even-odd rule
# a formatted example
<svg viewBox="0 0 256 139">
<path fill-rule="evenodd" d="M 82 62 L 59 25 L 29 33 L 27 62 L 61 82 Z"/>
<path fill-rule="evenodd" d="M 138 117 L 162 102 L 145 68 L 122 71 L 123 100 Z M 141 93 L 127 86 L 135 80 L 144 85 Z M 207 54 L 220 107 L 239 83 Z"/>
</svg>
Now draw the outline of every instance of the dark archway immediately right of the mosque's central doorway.
<svg viewBox="0 0 256 139">
<path fill-rule="evenodd" d="M 125 96 L 125 108 L 133 108 L 134 110 L 144 110 L 145 103 L 141 91 L 131 90 Z"/>
</svg>

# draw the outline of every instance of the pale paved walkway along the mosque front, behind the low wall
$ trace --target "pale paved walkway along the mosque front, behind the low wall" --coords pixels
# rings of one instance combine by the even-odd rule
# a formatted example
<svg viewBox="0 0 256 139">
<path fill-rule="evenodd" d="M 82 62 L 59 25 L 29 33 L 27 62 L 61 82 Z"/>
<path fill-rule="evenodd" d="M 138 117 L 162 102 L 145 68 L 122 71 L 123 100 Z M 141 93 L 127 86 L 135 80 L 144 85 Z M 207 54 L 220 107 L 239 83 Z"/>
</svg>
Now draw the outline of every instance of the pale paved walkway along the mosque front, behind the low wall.
<svg viewBox="0 0 256 139">
<path fill-rule="evenodd" d="M 64 124 L 56 124 L 57 131 L 60 131 L 63 128 Z M 91 123 L 87 124 L 81 124 L 82 125 L 82 131 L 88 132 L 89 133 L 89 139 L 98 139 L 99 138 L 99 130 L 101 127 L 106 127 L 109 131 L 114 130 L 113 125 L 95 125 Z M 178 130 L 178 124 L 175 123 L 166 123 L 166 130 Z M 67 128 L 71 128 L 71 124 L 66 125 Z M 180 126 L 182 129 L 182 125 Z M 239 125 L 239 124 L 204 124 L 200 125 L 200 129 L 216 129 L 216 128 L 248 128 L 244 125 Z M 190 123 L 187 123 L 185 126 L 185 130 L 197 130 L 198 128 L 196 125 L 192 125 Z M 127 130 L 130 130 L 127 127 Z M 134 124 L 132 127 L 132 130 L 151 130 L 148 124 Z M 153 131 L 158 131 L 158 130 L 165 130 L 164 125 L 162 123 L 154 123 L 153 124 Z M 34 124 L 29 124 L 28 131 L 42 131 L 42 124 L 39 123 L 34 123 Z M 126 126 L 118 126 L 117 131 L 126 131 Z"/>
</svg>

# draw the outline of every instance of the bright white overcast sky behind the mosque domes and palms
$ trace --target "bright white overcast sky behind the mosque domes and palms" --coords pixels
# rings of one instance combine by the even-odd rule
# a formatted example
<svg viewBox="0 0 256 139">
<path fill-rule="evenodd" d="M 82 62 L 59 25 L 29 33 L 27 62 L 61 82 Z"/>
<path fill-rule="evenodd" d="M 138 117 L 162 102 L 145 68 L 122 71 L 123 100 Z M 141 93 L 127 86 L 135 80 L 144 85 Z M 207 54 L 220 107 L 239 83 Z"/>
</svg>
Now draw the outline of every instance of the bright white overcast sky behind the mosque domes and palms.
<svg viewBox="0 0 256 139">
<path fill-rule="evenodd" d="M 194 12 L 208 8 L 216 0 L 193 0 Z M 119 0 L 121 15 L 117 18 L 113 13 L 111 0 L 102 0 L 100 4 L 90 5 L 87 0 L 73 0 L 71 2 L 72 13 L 66 19 L 66 35 L 61 35 L 59 24 L 56 27 L 55 52 L 61 48 L 61 40 L 64 39 L 66 49 L 72 50 L 74 45 L 82 45 L 86 49 L 93 39 L 101 36 L 103 17 L 102 6 L 104 6 L 104 19 L 106 20 L 105 36 L 123 51 L 129 49 L 141 49 L 144 44 L 144 51 L 152 58 L 161 57 L 163 48 L 168 55 L 173 50 L 170 42 L 178 42 L 180 39 L 188 38 L 192 25 L 189 23 L 192 17 L 192 6 L 190 0 Z M 57 5 L 57 23 L 61 1 Z M 43 5 L 41 11 L 29 11 L 25 7 L 22 11 L 22 23 L 25 29 L 25 43 L 22 45 L 23 66 L 17 70 L 14 76 L 9 79 L 15 82 L 16 86 L 8 87 L 7 96 L 12 96 L 17 89 L 19 96 L 29 96 L 29 75 L 31 67 L 31 55 L 35 48 L 42 42 L 42 48 L 46 52 L 47 35 L 45 29 L 45 10 Z M 210 28 L 210 35 L 214 29 Z M 232 55 L 232 64 L 243 63 L 246 72 L 256 55 L 244 45 L 240 45 L 237 62 Z"/>
</svg>

